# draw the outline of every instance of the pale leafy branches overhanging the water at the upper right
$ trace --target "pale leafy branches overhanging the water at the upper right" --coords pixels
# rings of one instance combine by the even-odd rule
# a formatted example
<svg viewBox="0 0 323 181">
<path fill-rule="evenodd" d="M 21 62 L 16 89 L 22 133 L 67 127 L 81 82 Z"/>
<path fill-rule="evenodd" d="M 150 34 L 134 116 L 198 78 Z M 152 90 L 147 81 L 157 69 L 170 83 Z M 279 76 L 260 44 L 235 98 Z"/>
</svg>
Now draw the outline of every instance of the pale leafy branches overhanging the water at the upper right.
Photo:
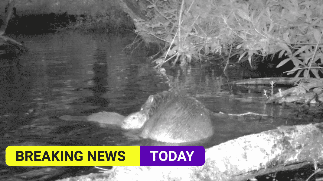
<svg viewBox="0 0 323 181">
<path fill-rule="evenodd" d="M 168 44 L 166 57 L 181 57 L 182 64 L 210 53 L 240 54 L 251 63 L 255 55 L 279 52 L 292 61 L 296 77 L 311 72 L 319 77 L 323 64 L 323 4 L 314 0 L 148 0 L 147 19 L 135 21 L 140 35 Z M 179 20 L 181 19 L 181 23 Z M 175 60 L 175 62 L 177 59 Z"/>
</svg>

